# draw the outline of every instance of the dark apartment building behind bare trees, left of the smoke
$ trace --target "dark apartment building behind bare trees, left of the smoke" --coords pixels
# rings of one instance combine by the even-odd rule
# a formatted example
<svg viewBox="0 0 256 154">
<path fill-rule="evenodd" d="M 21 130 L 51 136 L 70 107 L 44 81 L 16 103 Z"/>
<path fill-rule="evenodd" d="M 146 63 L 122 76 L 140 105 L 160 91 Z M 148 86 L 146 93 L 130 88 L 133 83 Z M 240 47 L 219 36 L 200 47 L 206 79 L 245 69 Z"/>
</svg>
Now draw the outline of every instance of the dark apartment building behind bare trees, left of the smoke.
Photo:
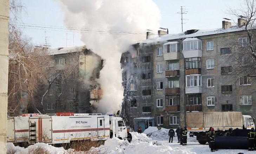
<svg viewBox="0 0 256 154">
<path fill-rule="evenodd" d="M 51 56 L 48 81 L 35 100 L 41 101 L 47 91 L 43 99 L 45 113 L 91 113 L 90 101 L 97 101 L 102 95 L 96 79 L 103 60 L 86 46 L 60 47 L 48 52 Z"/>
</svg>

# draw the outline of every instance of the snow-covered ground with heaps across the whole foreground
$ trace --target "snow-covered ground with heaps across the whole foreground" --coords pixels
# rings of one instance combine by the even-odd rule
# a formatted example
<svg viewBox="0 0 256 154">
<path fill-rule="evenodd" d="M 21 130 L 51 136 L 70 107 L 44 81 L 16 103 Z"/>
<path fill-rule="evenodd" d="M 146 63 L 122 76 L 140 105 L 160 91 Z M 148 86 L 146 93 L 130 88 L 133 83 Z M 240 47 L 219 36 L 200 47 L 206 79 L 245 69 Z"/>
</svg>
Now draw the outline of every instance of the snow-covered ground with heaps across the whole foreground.
<svg viewBox="0 0 256 154">
<path fill-rule="evenodd" d="M 188 145 L 179 145 L 177 136 L 173 138 L 173 143 L 169 143 L 168 129 L 162 128 L 158 130 L 156 127 L 149 127 L 145 130 L 145 133 L 138 134 L 137 132 L 131 132 L 132 142 L 119 140 L 118 138 L 113 138 L 106 140 L 104 145 L 97 148 L 91 148 L 89 153 L 99 153 L 99 154 L 210 154 L 209 145 L 199 144 L 195 138 L 188 138 Z M 64 148 L 57 148 L 45 143 L 36 143 L 35 145 L 29 146 L 27 148 L 15 147 L 12 143 L 7 143 L 7 148 L 11 154 L 30 154 L 34 150 L 44 149 L 45 153 L 49 154 L 83 154 L 84 152 L 74 152 L 73 149 L 65 150 Z M 214 152 L 215 154 L 252 154 L 248 150 L 239 149 L 219 149 Z"/>
</svg>

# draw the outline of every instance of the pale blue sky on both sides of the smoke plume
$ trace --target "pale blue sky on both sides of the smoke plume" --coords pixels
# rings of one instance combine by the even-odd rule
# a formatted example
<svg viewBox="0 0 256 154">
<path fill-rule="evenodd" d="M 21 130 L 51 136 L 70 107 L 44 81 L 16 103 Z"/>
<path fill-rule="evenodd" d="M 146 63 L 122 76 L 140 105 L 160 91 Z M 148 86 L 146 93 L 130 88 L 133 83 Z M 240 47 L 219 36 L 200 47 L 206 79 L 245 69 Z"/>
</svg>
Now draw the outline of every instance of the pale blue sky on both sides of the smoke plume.
<svg viewBox="0 0 256 154">
<path fill-rule="evenodd" d="M 183 31 L 189 29 L 212 29 L 222 27 L 222 18 L 234 19 L 232 24 L 235 25 L 237 19 L 230 15 L 229 8 L 239 9 L 243 0 L 153 0 L 161 12 L 162 18 L 160 25 L 163 28 L 168 28 L 169 33 L 180 33 L 181 16 L 180 6 L 183 6 L 188 11 L 183 15 L 185 24 Z M 21 13 L 17 25 L 33 24 L 48 25 L 54 27 L 65 28 L 64 12 L 61 11 L 58 0 L 22 0 L 25 6 Z M 147 4 L 145 4 L 147 7 Z M 153 10 L 152 10 L 153 11 Z M 93 27 L 87 27 L 93 28 Z M 114 29 L 111 29 L 114 30 Z M 145 29 L 146 30 L 146 29 Z M 45 36 L 47 37 L 47 45 L 51 48 L 65 46 L 80 46 L 84 45 L 80 41 L 80 34 L 60 29 L 45 29 L 28 27 L 22 28 L 26 36 L 31 38 L 35 45 L 45 45 Z M 131 31 L 127 29 L 127 31 Z M 104 34 L 103 34 L 104 35 Z"/>
</svg>

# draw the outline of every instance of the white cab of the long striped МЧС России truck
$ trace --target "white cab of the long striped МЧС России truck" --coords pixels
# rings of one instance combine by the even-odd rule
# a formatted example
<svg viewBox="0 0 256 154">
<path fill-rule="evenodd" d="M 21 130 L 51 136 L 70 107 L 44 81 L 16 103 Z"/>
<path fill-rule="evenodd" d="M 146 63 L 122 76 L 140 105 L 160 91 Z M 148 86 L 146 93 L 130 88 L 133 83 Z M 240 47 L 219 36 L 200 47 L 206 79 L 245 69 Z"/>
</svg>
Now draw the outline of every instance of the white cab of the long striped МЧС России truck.
<svg viewBox="0 0 256 154">
<path fill-rule="evenodd" d="M 119 139 L 127 139 L 127 129 L 124 123 L 123 118 L 110 116 L 109 117 L 109 125 L 110 131 L 113 131 L 113 135 L 115 135 Z"/>
</svg>

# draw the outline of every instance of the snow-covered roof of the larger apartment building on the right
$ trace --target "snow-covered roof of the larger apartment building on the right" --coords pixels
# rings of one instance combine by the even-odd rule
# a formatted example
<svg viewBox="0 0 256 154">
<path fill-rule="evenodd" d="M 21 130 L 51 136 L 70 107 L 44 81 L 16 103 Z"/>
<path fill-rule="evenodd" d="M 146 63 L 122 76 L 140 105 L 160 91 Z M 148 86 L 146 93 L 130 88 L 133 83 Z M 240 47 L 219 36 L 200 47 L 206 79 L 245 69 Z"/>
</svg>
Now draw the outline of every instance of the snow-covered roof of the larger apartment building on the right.
<svg viewBox="0 0 256 154">
<path fill-rule="evenodd" d="M 255 27 L 254 27 L 254 29 L 255 29 Z M 224 28 L 201 29 L 192 34 L 186 35 L 184 32 L 178 33 L 178 34 L 167 34 L 167 35 L 163 35 L 161 37 L 155 37 L 155 38 L 147 39 L 144 41 L 140 41 L 139 43 L 166 42 L 166 41 L 175 40 L 175 39 L 195 38 L 198 36 L 223 34 L 223 33 L 238 32 L 238 31 L 244 31 L 244 30 L 245 30 L 245 26 L 243 26 L 243 27 L 233 26 L 233 27 L 227 28 L 227 29 L 224 29 Z"/>
</svg>

